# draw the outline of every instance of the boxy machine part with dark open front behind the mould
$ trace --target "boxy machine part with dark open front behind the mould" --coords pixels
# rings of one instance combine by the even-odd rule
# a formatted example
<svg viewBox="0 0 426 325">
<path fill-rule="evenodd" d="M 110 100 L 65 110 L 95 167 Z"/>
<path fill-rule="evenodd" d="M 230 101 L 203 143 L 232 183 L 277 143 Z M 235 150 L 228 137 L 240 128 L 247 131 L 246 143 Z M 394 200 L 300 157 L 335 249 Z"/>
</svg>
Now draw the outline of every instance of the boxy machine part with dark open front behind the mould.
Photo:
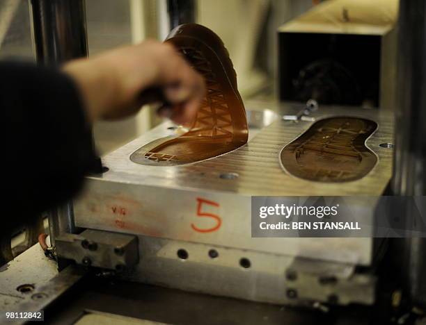
<svg viewBox="0 0 426 325">
<path fill-rule="evenodd" d="M 329 1 L 278 29 L 284 101 L 395 107 L 397 1 Z"/>
</svg>

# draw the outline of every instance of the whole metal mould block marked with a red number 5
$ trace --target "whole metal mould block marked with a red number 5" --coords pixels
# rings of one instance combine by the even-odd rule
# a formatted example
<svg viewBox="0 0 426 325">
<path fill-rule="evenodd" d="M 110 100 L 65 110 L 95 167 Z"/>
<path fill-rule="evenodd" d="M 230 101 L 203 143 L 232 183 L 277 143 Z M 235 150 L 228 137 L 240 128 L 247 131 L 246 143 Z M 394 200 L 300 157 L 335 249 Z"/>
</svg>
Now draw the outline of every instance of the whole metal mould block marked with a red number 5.
<svg viewBox="0 0 426 325">
<path fill-rule="evenodd" d="M 300 108 L 300 107 L 299 107 Z M 293 113 L 292 109 L 280 113 Z M 251 238 L 251 196 L 371 195 L 384 192 L 392 169 L 392 116 L 379 110 L 322 107 L 311 116 L 372 119 L 377 131 L 366 145 L 378 163 L 365 177 L 346 183 L 319 183 L 281 169 L 279 153 L 312 122 L 276 119 L 250 128 L 246 145 L 225 155 L 174 167 L 133 163 L 143 145 L 171 134 L 164 123 L 104 157 L 109 172 L 88 178 L 74 206 L 77 226 L 155 238 L 215 244 L 286 256 L 369 265 L 371 238 Z"/>
</svg>

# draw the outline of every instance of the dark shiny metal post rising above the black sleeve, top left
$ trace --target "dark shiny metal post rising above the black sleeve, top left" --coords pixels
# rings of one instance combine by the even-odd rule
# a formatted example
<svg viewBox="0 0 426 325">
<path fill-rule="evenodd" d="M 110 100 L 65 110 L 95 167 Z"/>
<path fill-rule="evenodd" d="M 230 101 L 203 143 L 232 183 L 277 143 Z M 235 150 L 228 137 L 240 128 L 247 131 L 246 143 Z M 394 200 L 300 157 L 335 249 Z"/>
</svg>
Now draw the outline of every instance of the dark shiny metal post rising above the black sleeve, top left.
<svg viewBox="0 0 426 325">
<path fill-rule="evenodd" d="M 31 0 L 38 62 L 63 63 L 88 55 L 84 0 Z"/>
</svg>

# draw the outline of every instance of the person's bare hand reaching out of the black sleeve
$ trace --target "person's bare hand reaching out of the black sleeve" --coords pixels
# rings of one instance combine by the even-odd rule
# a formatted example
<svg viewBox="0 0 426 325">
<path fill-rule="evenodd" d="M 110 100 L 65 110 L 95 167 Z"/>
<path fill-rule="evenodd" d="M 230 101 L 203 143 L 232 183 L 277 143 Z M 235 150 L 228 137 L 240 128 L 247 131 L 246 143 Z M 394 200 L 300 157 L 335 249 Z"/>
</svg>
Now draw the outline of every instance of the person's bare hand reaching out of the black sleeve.
<svg viewBox="0 0 426 325">
<path fill-rule="evenodd" d="M 66 63 L 77 83 L 88 119 L 120 119 L 145 103 L 161 104 L 159 114 L 183 124 L 194 119 L 205 94 L 203 77 L 171 44 L 153 40 Z"/>
</svg>

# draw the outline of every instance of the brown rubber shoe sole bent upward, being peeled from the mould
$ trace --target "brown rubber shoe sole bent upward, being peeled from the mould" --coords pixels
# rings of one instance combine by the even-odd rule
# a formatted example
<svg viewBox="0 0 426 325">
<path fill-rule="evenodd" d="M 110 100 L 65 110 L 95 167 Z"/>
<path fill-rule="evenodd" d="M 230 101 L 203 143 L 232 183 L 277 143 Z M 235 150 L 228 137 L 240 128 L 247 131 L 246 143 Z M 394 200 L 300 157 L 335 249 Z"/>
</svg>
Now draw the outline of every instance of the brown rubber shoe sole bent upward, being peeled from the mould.
<svg viewBox="0 0 426 325">
<path fill-rule="evenodd" d="M 166 42 L 203 75 L 207 94 L 187 133 L 150 142 L 130 159 L 143 165 L 182 165 L 241 147 L 248 139 L 246 111 L 229 53 L 219 36 L 204 26 L 184 24 L 173 29 Z"/>
</svg>

